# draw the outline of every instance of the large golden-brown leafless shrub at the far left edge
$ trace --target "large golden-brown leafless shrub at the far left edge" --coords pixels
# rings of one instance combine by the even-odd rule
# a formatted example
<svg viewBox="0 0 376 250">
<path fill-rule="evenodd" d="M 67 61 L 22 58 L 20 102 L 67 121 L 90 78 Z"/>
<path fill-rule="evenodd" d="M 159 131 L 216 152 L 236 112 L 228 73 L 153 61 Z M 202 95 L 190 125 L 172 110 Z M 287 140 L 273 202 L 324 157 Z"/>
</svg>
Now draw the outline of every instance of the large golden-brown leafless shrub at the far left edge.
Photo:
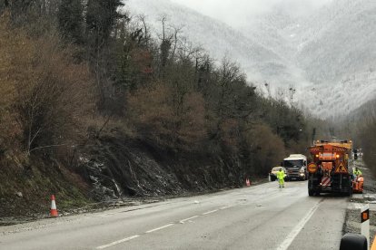
<svg viewBox="0 0 376 250">
<path fill-rule="evenodd" d="M 0 137 L 18 139 L 30 154 L 65 145 L 84 132 L 93 108 L 93 86 L 85 64 L 73 63 L 73 50 L 56 34 L 30 38 L 0 21 Z M 8 130 L 13 130 L 9 133 Z"/>
</svg>

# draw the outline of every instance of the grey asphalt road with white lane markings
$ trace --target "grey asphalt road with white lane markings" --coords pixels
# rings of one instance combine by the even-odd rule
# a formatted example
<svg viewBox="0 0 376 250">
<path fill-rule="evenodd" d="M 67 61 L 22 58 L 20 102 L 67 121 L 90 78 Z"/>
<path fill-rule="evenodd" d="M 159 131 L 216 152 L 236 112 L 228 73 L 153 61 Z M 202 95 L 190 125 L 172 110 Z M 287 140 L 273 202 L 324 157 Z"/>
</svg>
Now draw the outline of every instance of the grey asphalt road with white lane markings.
<svg viewBox="0 0 376 250">
<path fill-rule="evenodd" d="M 347 198 L 286 184 L 2 226 L 0 249 L 339 249 Z"/>
</svg>

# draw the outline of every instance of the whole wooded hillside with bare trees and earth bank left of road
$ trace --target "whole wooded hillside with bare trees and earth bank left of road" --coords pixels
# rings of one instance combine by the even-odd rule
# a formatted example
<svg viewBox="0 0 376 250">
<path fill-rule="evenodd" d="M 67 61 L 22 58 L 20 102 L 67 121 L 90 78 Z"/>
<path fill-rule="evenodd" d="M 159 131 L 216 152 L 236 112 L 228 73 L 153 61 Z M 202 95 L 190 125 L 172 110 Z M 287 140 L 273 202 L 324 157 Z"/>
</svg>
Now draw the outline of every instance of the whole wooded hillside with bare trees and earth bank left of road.
<svg viewBox="0 0 376 250">
<path fill-rule="evenodd" d="M 123 5 L 0 3 L 0 216 L 51 193 L 74 207 L 240 187 L 327 136 L 167 17 L 159 34 Z"/>
</svg>

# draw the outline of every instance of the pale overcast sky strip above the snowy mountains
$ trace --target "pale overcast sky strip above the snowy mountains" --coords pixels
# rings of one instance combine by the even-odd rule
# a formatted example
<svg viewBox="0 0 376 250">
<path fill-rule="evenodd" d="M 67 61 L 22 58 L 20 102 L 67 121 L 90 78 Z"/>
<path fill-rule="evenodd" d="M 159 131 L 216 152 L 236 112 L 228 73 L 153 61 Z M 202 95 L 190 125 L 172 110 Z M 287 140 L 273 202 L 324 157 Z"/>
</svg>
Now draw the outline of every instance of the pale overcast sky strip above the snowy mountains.
<svg viewBox="0 0 376 250">
<path fill-rule="evenodd" d="M 268 12 L 280 5 L 291 14 L 309 14 L 310 11 L 328 4 L 331 0 L 172 0 L 186 5 L 225 23 L 242 25 L 255 14 Z"/>
</svg>

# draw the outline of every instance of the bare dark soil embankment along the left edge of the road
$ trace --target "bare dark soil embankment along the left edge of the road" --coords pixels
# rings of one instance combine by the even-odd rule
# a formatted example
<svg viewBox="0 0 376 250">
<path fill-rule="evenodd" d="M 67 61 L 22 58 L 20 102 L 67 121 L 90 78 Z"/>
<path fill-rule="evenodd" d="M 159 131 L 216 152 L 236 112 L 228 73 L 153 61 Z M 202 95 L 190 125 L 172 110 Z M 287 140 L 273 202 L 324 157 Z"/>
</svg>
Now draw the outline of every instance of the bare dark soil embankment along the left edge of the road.
<svg viewBox="0 0 376 250">
<path fill-rule="evenodd" d="M 52 159 L 8 160 L 13 166 L 0 173 L 0 223 L 48 216 L 51 194 L 69 215 L 240 187 L 247 175 L 238 157 L 173 152 L 120 135 L 92 139 L 74 159 L 70 168 Z"/>
</svg>

